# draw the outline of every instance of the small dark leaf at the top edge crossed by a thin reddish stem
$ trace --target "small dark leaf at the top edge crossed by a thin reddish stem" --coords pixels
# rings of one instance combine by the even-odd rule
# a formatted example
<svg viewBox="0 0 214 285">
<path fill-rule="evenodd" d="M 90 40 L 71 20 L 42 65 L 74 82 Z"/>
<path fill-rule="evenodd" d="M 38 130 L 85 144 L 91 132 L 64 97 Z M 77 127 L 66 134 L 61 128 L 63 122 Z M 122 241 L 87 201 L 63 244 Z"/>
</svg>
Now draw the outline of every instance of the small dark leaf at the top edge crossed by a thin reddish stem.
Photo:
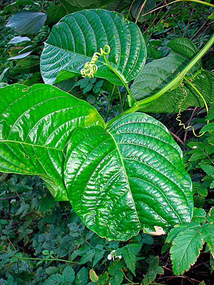
<svg viewBox="0 0 214 285">
<path fill-rule="evenodd" d="M 144 7 L 142 8 L 142 5 Z M 131 6 L 131 14 L 134 19 L 138 18 L 139 22 L 147 21 L 150 18 L 150 14 L 142 16 L 146 14 L 148 11 L 152 10 L 156 6 L 156 0 L 147 0 L 145 3 L 144 0 L 135 0 Z"/>
</svg>

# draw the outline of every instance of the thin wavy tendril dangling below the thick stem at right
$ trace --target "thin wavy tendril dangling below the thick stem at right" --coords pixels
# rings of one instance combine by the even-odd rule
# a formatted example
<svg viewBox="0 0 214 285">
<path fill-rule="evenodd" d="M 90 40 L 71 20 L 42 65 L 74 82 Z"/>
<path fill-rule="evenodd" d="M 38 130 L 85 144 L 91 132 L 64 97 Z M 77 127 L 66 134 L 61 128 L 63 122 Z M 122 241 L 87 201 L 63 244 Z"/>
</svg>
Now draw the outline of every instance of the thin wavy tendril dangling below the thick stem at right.
<svg viewBox="0 0 214 285">
<path fill-rule="evenodd" d="M 191 72 L 190 72 L 190 73 L 191 73 Z M 178 75 L 180 76 L 180 74 L 178 74 Z M 185 80 L 196 90 L 196 92 L 200 95 L 200 97 L 202 98 L 202 100 L 203 100 L 203 102 L 204 102 L 204 104 L 205 104 L 206 111 L 207 111 L 207 114 L 208 114 L 208 107 L 207 107 L 206 101 L 204 100 L 204 98 L 203 98 L 203 96 L 200 94 L 200 92 L 194 87 L 194 85 L 192 85 L 192 78 L 193 78 L 192 73 L 191 73 L 191 76 L 192 76 L 192 77 L 191 77 L 190 79 L 186 79 L 185 77 L 184 77 L 184 79 L 185 79 Z M 203 133 L 201 133 L 200 135 L 197 135 L 197 134 L 195 134 L 195 130 L 194 130 L 194 127 L 193 127 L 193 126 L 185 127 L 185 124 L 182 123 L 182 121 L 181 121 L 181 119 L 180 119 L 180 117 L 181 117 L 181 105 L 182 105 L 183 101 L 186 99 L 186 97 L 187 97 L 187 95 L 188 95 L 186 89 L 184 88 L 184 83 L 183 83 L 183 81 L 181 81 L 181 84 L 180 84 L 180 86 L 179 86 L 179 89 L 180 89 L 181 91 L 183 91 L 184 97 L 183 97 L 183 99 L 181 99 L 181 101 L 179 102 L 179 105 L 178 105 L 179 112 L 178 112 L 178 115 L 177 115 L 176 120 L 179 122 L 179 126 L 183 126 L 184 129 L 192 128 L 193 134 L 194 134 L 195 136 L 197 136 L 197 137 L 200 137 L 200 136 L 202 136 L 202 135 L 205 133 L 205 131 L 204 131 Z M 207 121 L 207 124 L 208 124 L 208 122 L 209 122 L 209 121 Z"/>
</svg>

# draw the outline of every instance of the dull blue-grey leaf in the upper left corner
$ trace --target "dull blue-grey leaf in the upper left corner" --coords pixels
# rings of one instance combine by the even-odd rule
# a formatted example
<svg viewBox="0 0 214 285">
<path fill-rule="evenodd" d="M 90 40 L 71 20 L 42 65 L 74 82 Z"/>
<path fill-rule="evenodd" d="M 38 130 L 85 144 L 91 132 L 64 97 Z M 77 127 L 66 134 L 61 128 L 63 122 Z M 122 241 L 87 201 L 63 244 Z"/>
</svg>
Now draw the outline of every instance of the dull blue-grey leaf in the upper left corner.
<svg viewBox="0 0 214 285">
<path fill-rule="evenodd" d="M 42 12 L 21 11 L 16 13 L 8 22 L 6 27 L 13 28 L 20 34 L 36 33 L 44 24 L 47 15 Z"/>
</svg>

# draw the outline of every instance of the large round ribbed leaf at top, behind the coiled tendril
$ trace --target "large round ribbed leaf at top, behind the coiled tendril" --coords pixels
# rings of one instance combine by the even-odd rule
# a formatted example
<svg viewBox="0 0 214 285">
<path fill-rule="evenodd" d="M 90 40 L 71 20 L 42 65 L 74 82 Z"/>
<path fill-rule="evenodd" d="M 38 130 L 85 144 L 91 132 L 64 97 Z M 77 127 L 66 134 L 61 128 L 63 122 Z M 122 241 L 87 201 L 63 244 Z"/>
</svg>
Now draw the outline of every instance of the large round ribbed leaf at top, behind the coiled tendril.
<svg viewBox="0 0 214 285">
<path fill-rule="evenodd" d="M 58 73 L 62 76 L 65 72 L 63 80 L 80 76 L 85 63 L 107 44 L 111 48 L 107 58 L 112 67 L 126 83 L 134 79 L 146 60 L 144 38 L 134 23 L 102 9 L 83 10 L 65 16 L 53 27 L 41 55 L 44 82 L 59 82 Z M 96 77 L 122 85 L 103 57 L 99 57 L 96 64 Z"/>
</svg>

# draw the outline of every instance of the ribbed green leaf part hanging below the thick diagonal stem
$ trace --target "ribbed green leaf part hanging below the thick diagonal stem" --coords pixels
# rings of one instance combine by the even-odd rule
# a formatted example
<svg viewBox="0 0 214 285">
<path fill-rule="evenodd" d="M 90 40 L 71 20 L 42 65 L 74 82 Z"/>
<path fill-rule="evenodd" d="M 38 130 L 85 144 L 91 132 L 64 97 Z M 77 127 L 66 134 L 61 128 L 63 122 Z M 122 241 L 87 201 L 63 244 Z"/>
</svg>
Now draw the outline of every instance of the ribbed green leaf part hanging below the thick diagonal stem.
<svg viewBox="0 0 214 285">
<path fill-rule="evenodd" d="M 189 106 L 197 106 L 204 108 L 204 103 L 198 93 L 184 81 L 184 88 L 187 91 L 187 97 L 181 105 L 181 110 L 185 110 Z M 207 105 L 209 105 L 214 100 L 214 73 L 207 72 L 203 70 L 198 74 L 192 81 L 192 84 L 198 89 L 198 91 L 204 97 Z M 167 91 L 157 100 L 152 102 L 150 105 L 140 109 L 142 112 L 178 112 L 179 111 L 179 102 L 184 98 L 184 93 L 179 88 L 176 88 L 172 91 Z"/>
</svg>

